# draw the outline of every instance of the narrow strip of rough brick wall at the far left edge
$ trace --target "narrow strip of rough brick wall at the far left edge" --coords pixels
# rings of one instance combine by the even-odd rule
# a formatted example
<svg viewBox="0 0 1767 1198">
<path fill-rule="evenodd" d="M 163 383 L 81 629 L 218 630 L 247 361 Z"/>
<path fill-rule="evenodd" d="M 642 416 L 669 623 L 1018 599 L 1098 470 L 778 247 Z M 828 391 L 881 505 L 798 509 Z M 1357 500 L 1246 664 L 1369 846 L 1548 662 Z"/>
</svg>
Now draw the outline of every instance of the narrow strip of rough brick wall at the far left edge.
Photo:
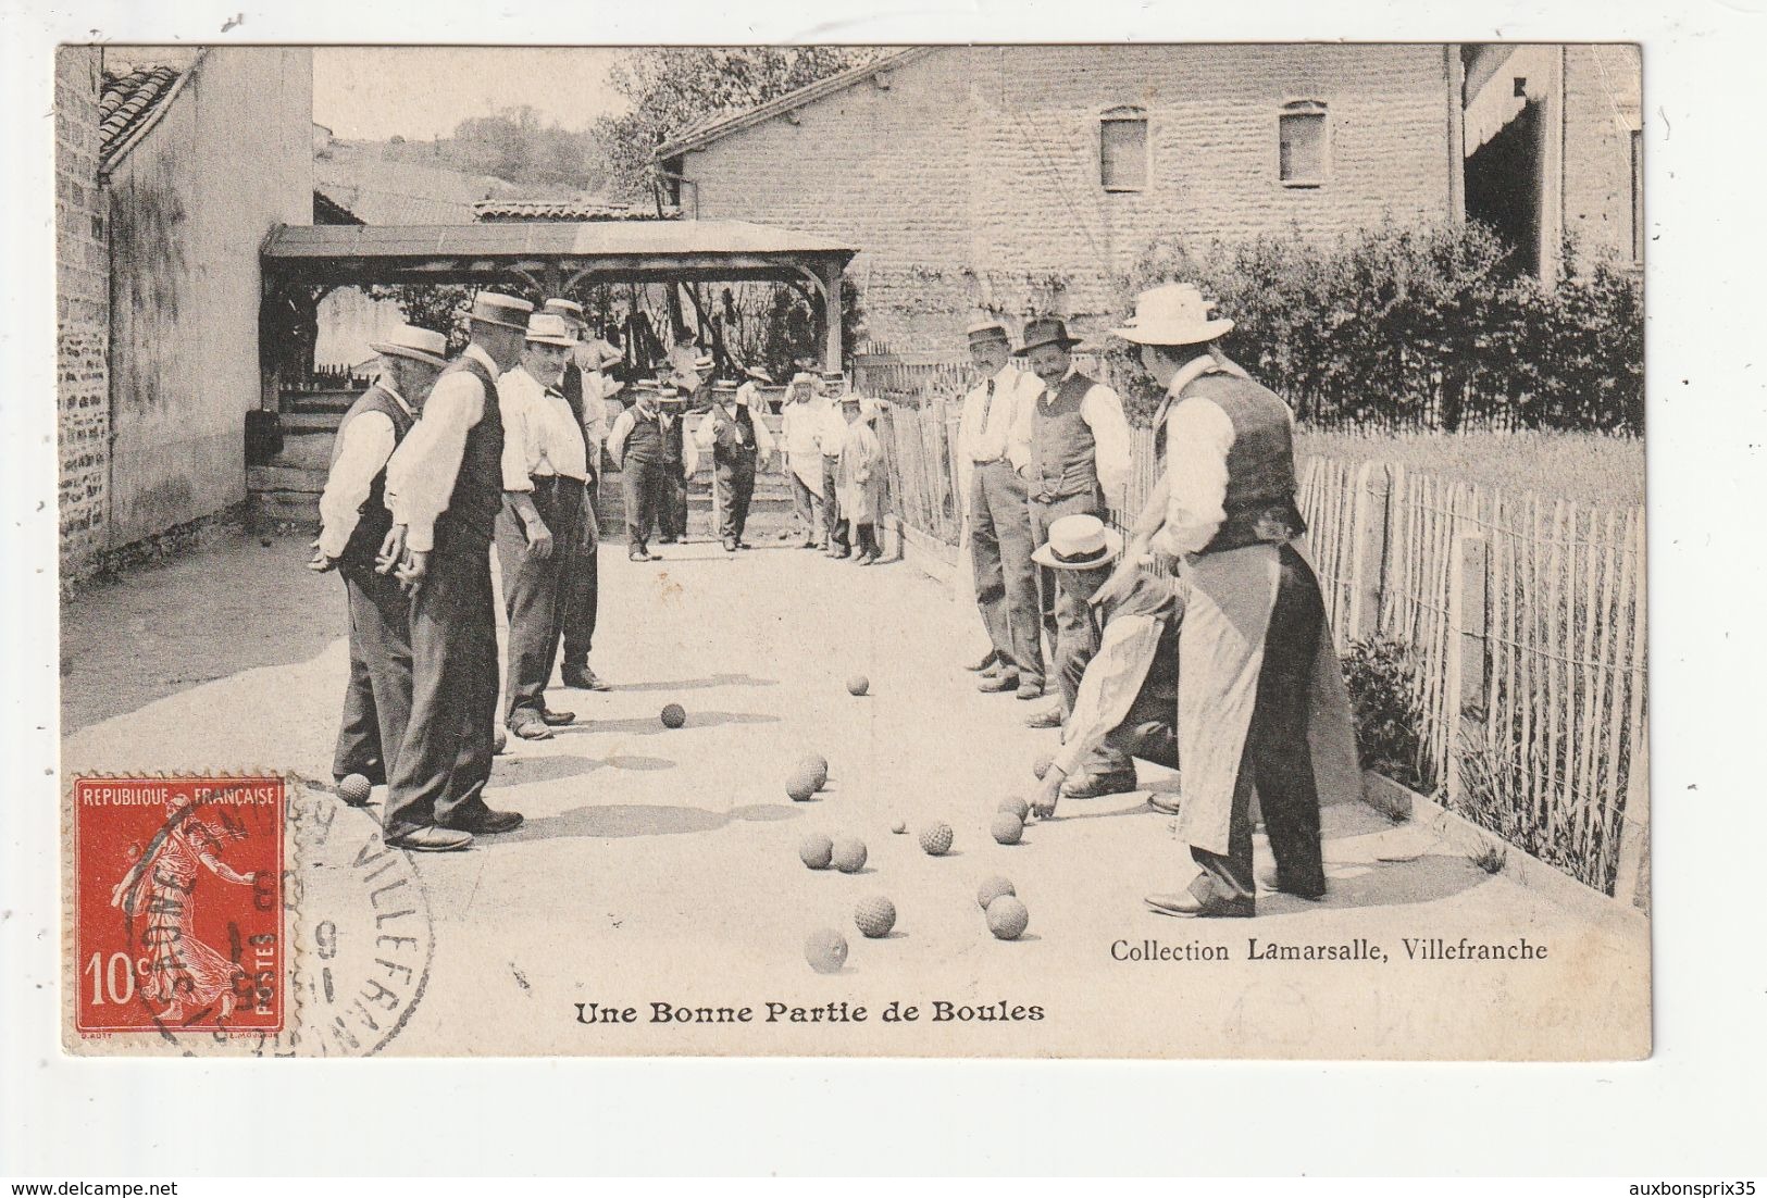
<svg viewBox="0 0 1767 1198">
<path fill-rule="evenodd" d="M 99 193 L 99 51 L 55 60 L 55 306 L 62 576 L 104 548 L 110 486 L 110 253 Z"/>
</svg>

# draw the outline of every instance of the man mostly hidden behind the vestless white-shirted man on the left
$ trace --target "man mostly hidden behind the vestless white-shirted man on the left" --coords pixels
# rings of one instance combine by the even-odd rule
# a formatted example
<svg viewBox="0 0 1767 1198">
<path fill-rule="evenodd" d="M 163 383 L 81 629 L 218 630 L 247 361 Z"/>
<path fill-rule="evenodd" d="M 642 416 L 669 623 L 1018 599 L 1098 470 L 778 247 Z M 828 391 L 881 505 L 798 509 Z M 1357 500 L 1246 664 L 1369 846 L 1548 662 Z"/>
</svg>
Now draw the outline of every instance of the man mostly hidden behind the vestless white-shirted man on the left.
<svg viewBox="0 0 1767 1198">
<path fill-rule="evenodd" d="M 583 307 L 574 300 L 550 299 L 546 311 L 564 316 L 578 341 L 564 368 L 560 390 L 583 429 L 583 465 L 588 470 L 588 504 L 583 507 L 587 546 L 581 569 L 564 580 L 564 664 L 560 680 L 578 691 L 606 691 L 606 682 L 595 677 L 588 654 L 595 640 L 595 617 L 601 611 L 601 519 L 595 516 L 595 495 L 601 493 L 601 447 L 608 440 L 608 401 L 620 383 L 604 373 L 620 360 L 620 352 L 601 337 L 588 336 Z"/>
</svg>

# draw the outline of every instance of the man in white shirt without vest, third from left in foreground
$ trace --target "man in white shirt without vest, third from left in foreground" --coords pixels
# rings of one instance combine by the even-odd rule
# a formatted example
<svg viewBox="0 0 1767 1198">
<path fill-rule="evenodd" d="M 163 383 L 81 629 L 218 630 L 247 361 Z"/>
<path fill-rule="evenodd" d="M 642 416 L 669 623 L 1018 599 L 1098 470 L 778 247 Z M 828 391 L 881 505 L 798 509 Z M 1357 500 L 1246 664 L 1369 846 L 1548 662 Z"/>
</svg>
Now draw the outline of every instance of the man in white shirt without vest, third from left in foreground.
<svg viewBox="0 0 1767 1198">
<path fill-rule="evenodd" d="M 504 721 L 523 740 L 546 740 L 576 719 L 546 707 L 564 636 L 567 594 L 590 550 L 583 426 L 558 389 L 573 346 L 564 316 L 528 320 L 521 364 L 497 380 L 504 419 L 504 511 L 497 560 L 509 613 Z"/>
</svg>

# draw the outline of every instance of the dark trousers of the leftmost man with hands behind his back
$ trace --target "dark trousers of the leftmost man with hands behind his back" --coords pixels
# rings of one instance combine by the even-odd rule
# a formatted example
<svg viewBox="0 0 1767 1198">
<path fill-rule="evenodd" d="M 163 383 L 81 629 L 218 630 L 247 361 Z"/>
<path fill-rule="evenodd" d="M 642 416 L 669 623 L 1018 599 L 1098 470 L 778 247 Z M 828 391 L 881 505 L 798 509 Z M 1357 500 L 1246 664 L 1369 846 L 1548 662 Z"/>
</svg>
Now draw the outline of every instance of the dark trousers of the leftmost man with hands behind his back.
<svg viewBox="0 0 1767 1198">
<path fill-rule="evenodd" d="M 350 604 L 350 682 L 332 777 L 362 774 L 380 785 L 392 774 L 412 717 L 412 608 L 391 574 L 355 564 L 337 574 Z"/>
</svg>

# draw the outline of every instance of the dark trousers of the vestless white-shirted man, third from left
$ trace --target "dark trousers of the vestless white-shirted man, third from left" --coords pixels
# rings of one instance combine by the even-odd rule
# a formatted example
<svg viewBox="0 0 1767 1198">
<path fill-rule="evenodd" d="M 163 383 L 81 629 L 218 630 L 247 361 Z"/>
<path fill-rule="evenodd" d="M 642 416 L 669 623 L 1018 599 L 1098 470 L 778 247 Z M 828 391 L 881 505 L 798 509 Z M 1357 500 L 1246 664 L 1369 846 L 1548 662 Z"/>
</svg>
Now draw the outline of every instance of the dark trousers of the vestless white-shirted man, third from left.
<svg viewBox="0 0 1767 1198">
<path fill-rule="evenodd" d="M 567 581 L 583 571 L 583 507 L 580 479 L 534 479 L 534 509 L 551 532 L 546 557 L 528 548 L 521 518 L 509 500 L 497 518 L 497 558 L 504 567 L 504 610 L 509 613 L 509 671 L 504 717 L 546 707 L 546 684 L 558 661 L 569 611 Z"/>
</svg>

